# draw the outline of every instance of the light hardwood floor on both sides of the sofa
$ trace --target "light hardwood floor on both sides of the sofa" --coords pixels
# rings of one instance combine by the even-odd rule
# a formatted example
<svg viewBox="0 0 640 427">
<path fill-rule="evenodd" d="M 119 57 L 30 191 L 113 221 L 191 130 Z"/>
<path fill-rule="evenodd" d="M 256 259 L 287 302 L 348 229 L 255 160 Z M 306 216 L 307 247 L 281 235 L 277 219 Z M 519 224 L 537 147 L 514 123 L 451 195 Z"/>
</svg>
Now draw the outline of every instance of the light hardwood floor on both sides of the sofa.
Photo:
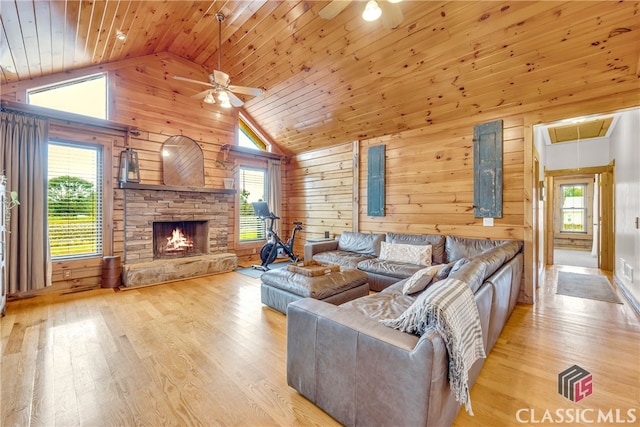
<svg viewBox="0 0 640 427">
<path fill-rule="evenodd" d="M 635 408 L 640 420 L 637 317 L 555 295 L 560 269 L 598 274 L 547 271 L 539 304 L 516 307 L 472 389 L 475 416 L 462 410 L 454 425 L 510 426 L 521 409 L 540 421 L 557 408 Z M 336 425 L 287 386 L 285 341 L 285 316 L 261 305 L 258 279 L 238 273 L 12 301 L 0 424 Z M 593 394 L 578 403 L 557 392 L 574 364 L 593 374 Z"/>
</svg>

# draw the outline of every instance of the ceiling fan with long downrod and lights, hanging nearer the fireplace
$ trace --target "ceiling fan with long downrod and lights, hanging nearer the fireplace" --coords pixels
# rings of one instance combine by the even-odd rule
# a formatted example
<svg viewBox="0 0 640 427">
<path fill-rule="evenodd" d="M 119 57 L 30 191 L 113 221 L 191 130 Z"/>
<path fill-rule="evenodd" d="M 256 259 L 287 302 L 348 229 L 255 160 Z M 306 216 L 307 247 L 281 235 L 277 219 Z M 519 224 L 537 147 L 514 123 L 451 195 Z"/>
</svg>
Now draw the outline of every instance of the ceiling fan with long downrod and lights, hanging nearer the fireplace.
<svg viewBox="0 0 640 427">
<path fill-rule="evenodd" d="M 222 68 L 222 23 L 224 22 L 225 16 L 220 12 L 216 13 L 215 16 L 218 21 L 218 68 L 220 69 Z M 251 96 L 262 95 L 262 89 L 232 85 L 229 75 L 219 69 L 213 70 L 213 73 L 209 74 L 208 82 L 202 82 L 180 76 L 173 76 L 173 78 L 201 86 L 211 86 L 213 89 L 203 90 L 202 92 L 192 96 L 192 98 L 204 98 L 204 102 L 207 104 L 215 104 L 217 97 L 218 102 L 220 102 L 220 106 L 224 108 L 231 108 L 232 106 L 242 107 L 244 105 L 242 100 L 238 98 L 234 92 Z"/>
</svg>

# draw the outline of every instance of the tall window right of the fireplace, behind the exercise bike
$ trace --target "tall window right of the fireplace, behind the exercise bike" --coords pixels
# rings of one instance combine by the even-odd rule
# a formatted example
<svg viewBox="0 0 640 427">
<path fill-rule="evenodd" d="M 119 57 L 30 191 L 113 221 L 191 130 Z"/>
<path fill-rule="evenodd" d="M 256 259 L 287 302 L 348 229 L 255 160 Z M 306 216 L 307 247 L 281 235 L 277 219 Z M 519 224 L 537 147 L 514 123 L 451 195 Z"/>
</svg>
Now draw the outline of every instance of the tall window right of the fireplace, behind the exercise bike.
<svg viewBox="0 0 640 427">
<path fill-rule="evenodd" d="M 266 200 L 266 175 L 264 169 L 240 167 L 240 242 L 265 239 L 264 221 L 255 216 L 251 203 Z"/>
</svg>

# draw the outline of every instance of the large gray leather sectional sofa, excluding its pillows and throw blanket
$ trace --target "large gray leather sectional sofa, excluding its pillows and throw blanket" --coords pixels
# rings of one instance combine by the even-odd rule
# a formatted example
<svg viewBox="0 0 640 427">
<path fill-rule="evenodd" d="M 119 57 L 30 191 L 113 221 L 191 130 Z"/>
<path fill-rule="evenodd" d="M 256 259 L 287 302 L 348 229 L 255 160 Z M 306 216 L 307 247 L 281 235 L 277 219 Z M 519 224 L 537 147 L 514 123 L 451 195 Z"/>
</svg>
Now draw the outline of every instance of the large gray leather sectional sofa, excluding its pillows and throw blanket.
<svg viewBox="0 0 640 427">
<path fill-rule="evenodd" d="M 378 236 L 369 237 L 374 245 L 381 241 Z M 416 235 L 383 236 L 389 237 L 392 241 L 426 241 L 426 237 Z M 459 268 L 451 269 L 449 278 L 465 282 L 473 292 L 484 350 L 489 354 L 519 295 L 522 242 L 453 236 L 429 239 L 442 248 L 438 255 L 434 251 L 434 260 L 438 256 L 443 263 L 464 259 L 456 264 Z M 344 251 L 346 246 L 340 249 L 336 244 L 331 249 L 333 242 L 321 243 L 329 251 Z M 311 248 L 305 248 L 305 256 L 310 251 Z M 321 252 L 328 251 L 316 251 L 314 255 Z M 376 264 L 375 253 L 362 255 L 366 255 L 364 259 L 356 260 L 357 253 L 352 252 L 346 260 L 352 268 L 371 268 Z M 334 252 L 318 258 L 326 261 L 334 257 L 335 262 L 337 256 Z M 371 274 L 377 283 L 391 282 L 394 275 L 400 274 L 397 269 L 392 264 L 367 271 L 367 275 Z M 403 270 L 402 274 L 409 271 Z M 450 425 L 460 403 L 450 390 L 448 352 L 443 338 L 432 329 L 417 336 L 380 322 L 400 316 L 420 294 L 403 293 L 408 279 L 395 280 L 396 283 L 384 286 L 382 292 L 339 306 L 314 299 L 289 304 L 287 382 L 344 425 Z M 469 387 L 484 360 L 477 360 L 469 370 Z"/>
</svg>

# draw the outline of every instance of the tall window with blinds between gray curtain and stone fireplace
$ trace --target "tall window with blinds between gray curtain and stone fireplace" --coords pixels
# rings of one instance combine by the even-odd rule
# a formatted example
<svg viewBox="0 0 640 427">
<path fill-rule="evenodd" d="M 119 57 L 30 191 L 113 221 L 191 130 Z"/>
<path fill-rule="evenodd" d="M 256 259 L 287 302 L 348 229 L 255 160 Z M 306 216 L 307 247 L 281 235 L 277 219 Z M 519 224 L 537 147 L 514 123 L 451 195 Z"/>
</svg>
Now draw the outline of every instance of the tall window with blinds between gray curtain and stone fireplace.
<svg viewBox="0 0 640 427">
<path fill-rule="evenodd" d="M 51 258 L 102 256 L 102 147 L 49 142 L 48 180 Z"/>
</svg>

